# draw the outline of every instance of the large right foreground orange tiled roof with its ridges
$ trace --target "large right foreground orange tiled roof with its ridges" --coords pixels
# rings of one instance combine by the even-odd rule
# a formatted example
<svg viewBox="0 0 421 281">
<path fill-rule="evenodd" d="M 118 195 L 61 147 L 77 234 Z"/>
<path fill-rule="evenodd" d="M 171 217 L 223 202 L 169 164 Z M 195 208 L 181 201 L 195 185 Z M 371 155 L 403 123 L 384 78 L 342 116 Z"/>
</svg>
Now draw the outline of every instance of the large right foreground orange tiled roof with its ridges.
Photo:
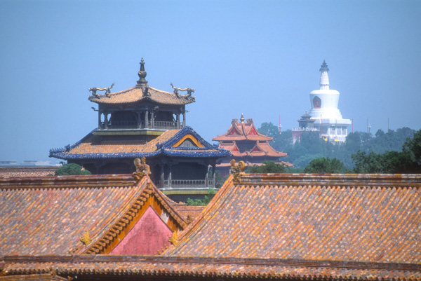
<svg viewBox="0 0 421 281">
<path fill-rule="evenodd" d="M 421 263 L 421 175 L 246 174 L 167 256 Z"/>
</svg>

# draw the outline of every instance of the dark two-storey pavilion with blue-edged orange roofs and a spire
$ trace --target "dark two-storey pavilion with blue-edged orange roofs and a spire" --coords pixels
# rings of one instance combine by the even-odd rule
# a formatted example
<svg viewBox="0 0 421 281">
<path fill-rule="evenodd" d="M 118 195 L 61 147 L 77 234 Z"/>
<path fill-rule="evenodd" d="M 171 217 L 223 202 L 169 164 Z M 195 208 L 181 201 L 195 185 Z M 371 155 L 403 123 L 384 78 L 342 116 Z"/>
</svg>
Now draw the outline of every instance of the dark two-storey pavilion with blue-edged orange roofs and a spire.
<svg viewBox="0 0 421 281">
<path fill-rule="evenodd" d="M 208 167 L 214 171 L 217 160 L 230 153 L 186 126 L 185 107 L 195 102 L 194 89 L 158 90 L 148 85 L 146 75 L 142 60 L 133 88 L 91 88 L 88 100 L 98 104 L 98 128 L 72 146 L 51 150 L 50 157 L 82 165 L 93 174 L 128 174 L 134 172 L 133 160 L 145 157 L 161 189 L 214 186 Z"/>
</svg>

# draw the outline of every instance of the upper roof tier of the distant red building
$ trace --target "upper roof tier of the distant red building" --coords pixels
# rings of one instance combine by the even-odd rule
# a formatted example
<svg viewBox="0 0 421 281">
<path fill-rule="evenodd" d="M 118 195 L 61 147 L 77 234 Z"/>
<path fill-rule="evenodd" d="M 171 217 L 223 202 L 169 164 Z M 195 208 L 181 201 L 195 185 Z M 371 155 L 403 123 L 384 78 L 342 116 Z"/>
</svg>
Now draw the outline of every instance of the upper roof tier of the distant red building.
<svg viewBox="0 0 421 281">
<path fill-rule="evenodd" d="M 238 119 L 233 119 L 228 131 L 224 135 L 218 135 L 218 137 L 214 137 L 212 140 L 218 142 L 232 142 L 241 140 L 266 142 L 272 139 L 272 137 L 267 137 L 267 135 L 262 135 L 260 132 L 258 132 L 258 130 L 255 128 L 255 125 L 253 124 L 253 119 L 247 119 L 247 122 L 244 123 L 244 118 L 241 114 L 239 123 Z"/>
</svg>

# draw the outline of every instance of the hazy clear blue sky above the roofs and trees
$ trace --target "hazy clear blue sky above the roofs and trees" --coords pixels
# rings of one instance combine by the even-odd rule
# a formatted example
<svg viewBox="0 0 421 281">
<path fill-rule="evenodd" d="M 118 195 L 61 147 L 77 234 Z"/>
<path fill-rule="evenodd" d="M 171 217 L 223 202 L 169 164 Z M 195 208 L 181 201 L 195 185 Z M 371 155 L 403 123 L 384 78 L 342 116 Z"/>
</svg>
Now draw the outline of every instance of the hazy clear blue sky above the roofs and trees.
<svg viewBox="0 0 421 281">
<path fill-rule="evenodd" d="M 96 128 L 88 88 L 194 88 L 187 125 L 210 141 L 232 118 L 298 126 L 330 88 L 354 130 L 421 127 L 421 1 L 5 1 L 0 160 L 48 160 Z M 351 126 L 349 126 L 349 131 Z"/>
</svg>

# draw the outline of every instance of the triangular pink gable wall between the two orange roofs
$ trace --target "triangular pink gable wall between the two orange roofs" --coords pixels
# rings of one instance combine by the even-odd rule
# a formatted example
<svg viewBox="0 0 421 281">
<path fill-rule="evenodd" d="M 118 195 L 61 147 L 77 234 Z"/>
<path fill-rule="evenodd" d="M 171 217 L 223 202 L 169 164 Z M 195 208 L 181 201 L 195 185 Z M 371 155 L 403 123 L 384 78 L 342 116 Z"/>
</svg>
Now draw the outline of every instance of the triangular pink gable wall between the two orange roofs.
<svg viewBox="0 0 421 281">
<path fill-rule="evenodd" d="M 137 224 L 109 254 L 156 254 L 170 245 L 172 231 L 158 214 L 148 207 Z"/>
</svg>

